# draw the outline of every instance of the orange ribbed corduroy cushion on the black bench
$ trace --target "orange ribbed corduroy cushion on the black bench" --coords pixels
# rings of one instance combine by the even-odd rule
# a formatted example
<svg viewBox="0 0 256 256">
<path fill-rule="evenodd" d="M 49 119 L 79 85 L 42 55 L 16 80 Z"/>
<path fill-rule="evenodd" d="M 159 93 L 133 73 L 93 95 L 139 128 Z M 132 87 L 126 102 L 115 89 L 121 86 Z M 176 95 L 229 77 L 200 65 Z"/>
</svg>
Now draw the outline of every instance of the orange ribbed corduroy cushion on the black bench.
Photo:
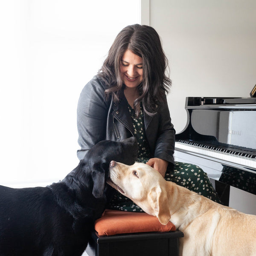
<svg viewBox="0 0 256 256">
<path fill-rule="evenodd" d="M 95 222 L 99 236 L 112 236 L 125 233 L 175 231 L 175 225 L 168 222 L 162 225 L 157 217 L 145 212 L 122 212 L 106 209 Z"/>
</svg>

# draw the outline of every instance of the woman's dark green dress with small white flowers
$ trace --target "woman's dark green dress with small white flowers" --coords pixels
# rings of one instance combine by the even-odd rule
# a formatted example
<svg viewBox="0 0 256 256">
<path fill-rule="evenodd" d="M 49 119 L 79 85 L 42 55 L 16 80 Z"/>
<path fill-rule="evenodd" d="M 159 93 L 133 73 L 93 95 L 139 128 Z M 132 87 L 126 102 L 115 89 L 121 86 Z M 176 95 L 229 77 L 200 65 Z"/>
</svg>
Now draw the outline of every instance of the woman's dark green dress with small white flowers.
<svg viewBox="0 0 256 256">
<path fill-rule="evenodd" d="M 137 162 L 147 163 L 151 154 L 149 151 L 147 140 L 145 139 L 143 108 L 140 107 L 140 116 L 135 117 L 134 109 L 128 105 L 129 112 L 133 119 L 134 136 L 137 138 L 139 145 L 139 154 Z M 209 181 L 207 174 L 198 166 L 175 162 L 174 170 L 167 169 L 165 180 L 177 183 L 180 186 L 186 187 L 189 190 L 197 192 L 199 195 L 221 203 L 212 183 Z M 143 212 L 143 210 L 131 201 L 131 199 L 115 191 L 108 205 L 109 209 L 116 209 L 128 212 Z"/>
</svg>

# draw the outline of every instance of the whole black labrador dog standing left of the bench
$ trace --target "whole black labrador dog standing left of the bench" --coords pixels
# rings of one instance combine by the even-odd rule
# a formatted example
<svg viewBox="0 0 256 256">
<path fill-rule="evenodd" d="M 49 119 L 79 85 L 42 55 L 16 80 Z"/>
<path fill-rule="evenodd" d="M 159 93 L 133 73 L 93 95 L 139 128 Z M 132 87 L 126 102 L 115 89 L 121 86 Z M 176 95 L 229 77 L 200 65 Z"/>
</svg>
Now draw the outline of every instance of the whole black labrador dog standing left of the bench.
<svg viewBox="0 0 256 256">
<path fill-rule="evenodd" d="M 137 141 L 104 140 L 64 180 L 47 187 L 0 186 L 0 256 L 76 256 L 106 204 L 111 160 L 131 165 Z"/>
</svg>

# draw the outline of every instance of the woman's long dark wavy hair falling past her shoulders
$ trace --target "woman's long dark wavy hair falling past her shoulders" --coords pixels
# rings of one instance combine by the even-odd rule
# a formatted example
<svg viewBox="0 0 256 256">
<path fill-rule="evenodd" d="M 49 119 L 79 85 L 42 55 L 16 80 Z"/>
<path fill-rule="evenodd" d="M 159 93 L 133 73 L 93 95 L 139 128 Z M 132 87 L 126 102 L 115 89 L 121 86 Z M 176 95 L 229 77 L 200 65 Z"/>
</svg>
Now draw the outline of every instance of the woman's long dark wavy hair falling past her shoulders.
<svg viewBox="0 0 256 256">
<path fill-rule="evenodd" d="M 120 62 L 128 49 L 143 59 L 143 81 L 138 87 L 140 96 L 134 101 L 136 116 L 140 114 L 140 102 L 148 115 L 154 115 L 163 95 L 169 92 L 172 81 L 166 76 L 168 60 L 159 35 L 151 26 L 126 26 L 116 36 L 99 70 L 99 75 L 108 85 L 105 94 L 107 97 L 112 95 L 114 102 L 119 101 L 120 91 L 125 88 L 120 74 Z"/>
</svg>

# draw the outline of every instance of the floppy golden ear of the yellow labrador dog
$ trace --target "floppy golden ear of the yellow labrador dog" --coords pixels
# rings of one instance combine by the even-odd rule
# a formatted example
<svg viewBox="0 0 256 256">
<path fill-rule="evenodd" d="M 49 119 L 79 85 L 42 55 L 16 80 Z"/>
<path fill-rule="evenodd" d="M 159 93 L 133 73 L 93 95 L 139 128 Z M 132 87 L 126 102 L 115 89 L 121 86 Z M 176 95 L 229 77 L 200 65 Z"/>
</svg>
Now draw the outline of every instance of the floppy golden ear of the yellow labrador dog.
<svg viewBox="0 0 256 256">
<path fill-rule="evenodd" d="M 166 225 L 171 218 L 167 192 L 161 189 L 160 186 L 155 186 L 150 190 L 148 197 L 149 203 L 154 208 L 158 220 L 161 224 Z"/>
</svg>

